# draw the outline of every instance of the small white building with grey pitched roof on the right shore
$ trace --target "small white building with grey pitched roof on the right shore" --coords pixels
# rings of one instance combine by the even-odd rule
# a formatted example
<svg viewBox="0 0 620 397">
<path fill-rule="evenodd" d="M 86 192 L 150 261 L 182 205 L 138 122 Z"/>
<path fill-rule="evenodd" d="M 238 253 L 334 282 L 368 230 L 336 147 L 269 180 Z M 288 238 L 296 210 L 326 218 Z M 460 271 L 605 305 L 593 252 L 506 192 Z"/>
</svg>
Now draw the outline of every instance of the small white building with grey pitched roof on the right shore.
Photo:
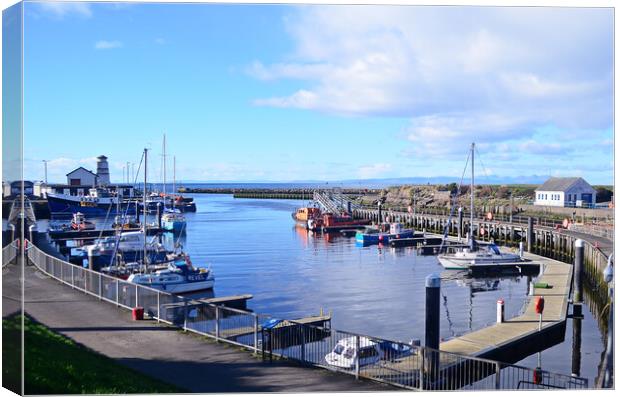
<svg viewBox="0 0 620 397">
<path fill-rule="evenodd" d="M 583 178 L 549 178 L 536 189 L 534 205 L 593 207 L 596 190 Z"/>
</svg>

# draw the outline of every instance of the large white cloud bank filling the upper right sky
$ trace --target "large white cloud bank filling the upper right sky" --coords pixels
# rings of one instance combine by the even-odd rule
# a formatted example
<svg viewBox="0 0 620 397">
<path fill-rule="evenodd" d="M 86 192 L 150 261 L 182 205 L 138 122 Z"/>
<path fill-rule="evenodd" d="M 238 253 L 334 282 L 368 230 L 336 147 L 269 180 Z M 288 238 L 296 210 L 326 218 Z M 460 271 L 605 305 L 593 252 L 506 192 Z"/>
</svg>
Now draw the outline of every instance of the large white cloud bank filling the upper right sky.
<svg viewBox="0 0 620 397">
<path fill-rule="evenodd" d="M 285 27 L 291 53 L 248 73 L 297 86 L 256 105 L 410 118 L 434 153 L 612 123 L 610 9 L 305 6 Z"/>
</svg>

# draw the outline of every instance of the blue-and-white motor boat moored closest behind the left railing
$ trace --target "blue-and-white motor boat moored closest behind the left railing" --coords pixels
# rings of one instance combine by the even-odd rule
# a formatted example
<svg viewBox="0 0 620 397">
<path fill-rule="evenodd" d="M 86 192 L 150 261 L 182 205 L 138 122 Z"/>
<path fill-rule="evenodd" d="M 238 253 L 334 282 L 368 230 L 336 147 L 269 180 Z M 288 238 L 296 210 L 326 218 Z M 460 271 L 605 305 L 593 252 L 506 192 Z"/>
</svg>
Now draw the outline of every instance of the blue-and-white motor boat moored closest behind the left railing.
<svg viewBox="0 0 620 397">
<path fill-rule="evenodd" d="M 127 278 L 134 284 L 144 285 L 171 293 L 185 293 L 213 288 L 215 277 L 210 268 L 194 267 L 188 255 L 179 254 L 165 270 L 134 273 Z"/>
</svg>

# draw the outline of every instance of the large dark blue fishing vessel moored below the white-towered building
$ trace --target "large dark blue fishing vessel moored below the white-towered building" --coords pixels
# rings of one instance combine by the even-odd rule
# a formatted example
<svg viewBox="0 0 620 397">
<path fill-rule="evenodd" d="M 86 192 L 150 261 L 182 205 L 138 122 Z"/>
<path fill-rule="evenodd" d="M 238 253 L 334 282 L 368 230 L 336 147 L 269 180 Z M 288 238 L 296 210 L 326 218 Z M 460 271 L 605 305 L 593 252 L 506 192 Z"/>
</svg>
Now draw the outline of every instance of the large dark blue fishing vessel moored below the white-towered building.
<svg viewBox="0 0 620 397">
<path fill-rule="evenodd" d="M 56 216 L 80 212 L 87 216 L 135 214 L 135 199 L 118 196 L 104 187 L 88 189 L 87 195 L 72 196 L 63 193 L 47 193 L 50 213 Z"/>
</svg>

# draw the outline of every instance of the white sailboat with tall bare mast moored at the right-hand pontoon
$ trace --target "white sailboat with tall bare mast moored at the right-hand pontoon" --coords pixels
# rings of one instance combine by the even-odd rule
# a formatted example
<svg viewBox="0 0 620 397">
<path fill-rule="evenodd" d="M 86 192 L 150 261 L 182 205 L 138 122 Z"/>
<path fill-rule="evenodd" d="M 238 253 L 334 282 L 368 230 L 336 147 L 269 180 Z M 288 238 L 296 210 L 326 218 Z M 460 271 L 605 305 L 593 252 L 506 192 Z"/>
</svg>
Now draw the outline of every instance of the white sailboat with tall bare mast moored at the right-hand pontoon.
<svg viewBox="0 0 620 397">
<path fill-rule="evenodd" d="M 469 220 L 469 247 L 461 248 L 455 252 L 441 254 L 437 257 L 439 263 L 445 269 L 472 269 L 476 266 L 501 265 L 502 263 L 521 262 L 519 255 L 505 253 L 495 244 L 490 244 L 486 249 L 478 247 L 473 234 L 474 225 L 474 151 L 476 144 L 471 144 L 471 185 L 470 185 L 470 220 Z"/>
</svg>

